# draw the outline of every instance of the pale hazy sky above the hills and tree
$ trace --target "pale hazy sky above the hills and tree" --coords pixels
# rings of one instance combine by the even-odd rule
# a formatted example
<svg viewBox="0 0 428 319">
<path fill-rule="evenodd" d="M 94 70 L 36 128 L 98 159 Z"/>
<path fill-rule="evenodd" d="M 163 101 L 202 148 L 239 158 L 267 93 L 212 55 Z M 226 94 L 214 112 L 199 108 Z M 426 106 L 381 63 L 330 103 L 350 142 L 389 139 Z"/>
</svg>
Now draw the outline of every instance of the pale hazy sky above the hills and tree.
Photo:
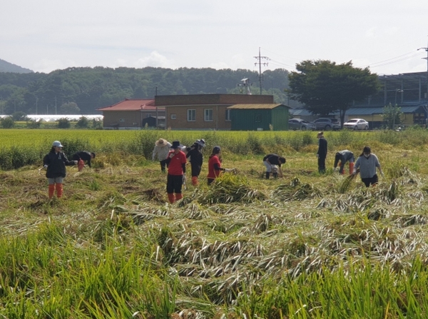
<svg viewBox="0 0 428 319">
<path fill-rule="evenodd" d="M 422 72 L 427 16 L 427 0 L 5 0 L 0 59 L 43 73 L 295 71 L 305 60 L 352 61 L 379 75 Z"/>
</svg>

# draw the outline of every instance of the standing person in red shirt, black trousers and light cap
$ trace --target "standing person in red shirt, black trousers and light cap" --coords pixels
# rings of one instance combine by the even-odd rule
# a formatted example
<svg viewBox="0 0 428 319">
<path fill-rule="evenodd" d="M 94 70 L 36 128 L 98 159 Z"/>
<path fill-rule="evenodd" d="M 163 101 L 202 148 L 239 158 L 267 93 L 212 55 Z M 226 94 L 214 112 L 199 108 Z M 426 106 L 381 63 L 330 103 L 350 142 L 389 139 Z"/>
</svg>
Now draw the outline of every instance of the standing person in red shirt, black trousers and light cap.
<svg viewBox="0 0 428 319">
<path fill-rule="evenodd" d="M 168 153 L 166 163 L 168 165 L 168 176 L 166 180 L 166 193 L 168 201 L 173 204 L 183 198 L 181 188 L 185 181 L 185 153 L 180 149 L 180 142 L 173 141 L 172 151 Z M 175 193 L 175 196 L 174 196 Z"/>
</svg>

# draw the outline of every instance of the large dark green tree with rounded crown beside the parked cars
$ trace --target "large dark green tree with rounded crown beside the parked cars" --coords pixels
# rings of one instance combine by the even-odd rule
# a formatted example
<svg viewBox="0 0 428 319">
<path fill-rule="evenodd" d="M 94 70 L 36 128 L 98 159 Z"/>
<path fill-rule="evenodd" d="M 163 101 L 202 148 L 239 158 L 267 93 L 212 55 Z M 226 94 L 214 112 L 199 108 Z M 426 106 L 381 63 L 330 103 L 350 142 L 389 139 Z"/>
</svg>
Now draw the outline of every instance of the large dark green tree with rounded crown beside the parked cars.
<svg viewBox="0 0 428 319">
<path fill-rule="evenodd" d="M 343 123 L 346 111 L 354 101 L 376 93 L 379 87 L 377 74 L 368 68 L 359 69 L 352 62 L 336 64 L 332 61 L 302 61 L 297 71 L 290 73 L 290 98 L 305 104 L 314 114 L 327 116 L 340 111 Z"/>
</svg>

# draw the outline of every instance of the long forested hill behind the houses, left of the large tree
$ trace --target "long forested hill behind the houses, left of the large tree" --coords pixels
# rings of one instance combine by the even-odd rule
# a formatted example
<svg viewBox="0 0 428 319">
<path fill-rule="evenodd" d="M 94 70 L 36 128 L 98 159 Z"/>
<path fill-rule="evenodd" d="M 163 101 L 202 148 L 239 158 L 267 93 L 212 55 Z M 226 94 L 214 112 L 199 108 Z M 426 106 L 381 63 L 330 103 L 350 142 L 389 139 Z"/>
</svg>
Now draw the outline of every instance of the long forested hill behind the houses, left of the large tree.
<svg viewBox="0 0 428 319">
<path fill-rule="evenodd" d="M 198 93 L 244 93 L 237 86 L 248 78 L 253 94 L 260 93 L 258 73 L 249 70 L 143 69 L 104 67 L 68 68 L 50 74 L 0 73 L 0 112 L 11 114 L 60 114 L 64 104 L 76 103 L 81 114 L 98 113 L 124 98 L 153 98 L 158 95 Z M 275 102 L 288 104 L 285 69 L 263 73 L 263 94 L 273 94 Z"/>
</svg>

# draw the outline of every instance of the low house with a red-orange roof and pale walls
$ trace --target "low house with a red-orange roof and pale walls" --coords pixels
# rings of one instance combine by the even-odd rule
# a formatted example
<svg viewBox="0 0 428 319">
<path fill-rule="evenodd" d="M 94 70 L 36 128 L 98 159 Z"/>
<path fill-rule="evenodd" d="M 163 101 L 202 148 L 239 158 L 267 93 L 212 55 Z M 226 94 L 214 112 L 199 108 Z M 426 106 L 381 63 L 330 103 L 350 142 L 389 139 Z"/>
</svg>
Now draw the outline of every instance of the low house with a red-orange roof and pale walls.
<svg viewBox="0 0 428 319">
<path fill-rule="evenodd" d="M 165 108 L 155 106 L 154 99 L 126 98 L 112 106 L 98 108 L 98 111 L 103 112 L 103 128 L 140 129 L 146 123 L 156 127 L 156 122 L 158 128 L 165 128 Z M 146 118 L 151 118 L 151 121 Z"/>
</svg>

